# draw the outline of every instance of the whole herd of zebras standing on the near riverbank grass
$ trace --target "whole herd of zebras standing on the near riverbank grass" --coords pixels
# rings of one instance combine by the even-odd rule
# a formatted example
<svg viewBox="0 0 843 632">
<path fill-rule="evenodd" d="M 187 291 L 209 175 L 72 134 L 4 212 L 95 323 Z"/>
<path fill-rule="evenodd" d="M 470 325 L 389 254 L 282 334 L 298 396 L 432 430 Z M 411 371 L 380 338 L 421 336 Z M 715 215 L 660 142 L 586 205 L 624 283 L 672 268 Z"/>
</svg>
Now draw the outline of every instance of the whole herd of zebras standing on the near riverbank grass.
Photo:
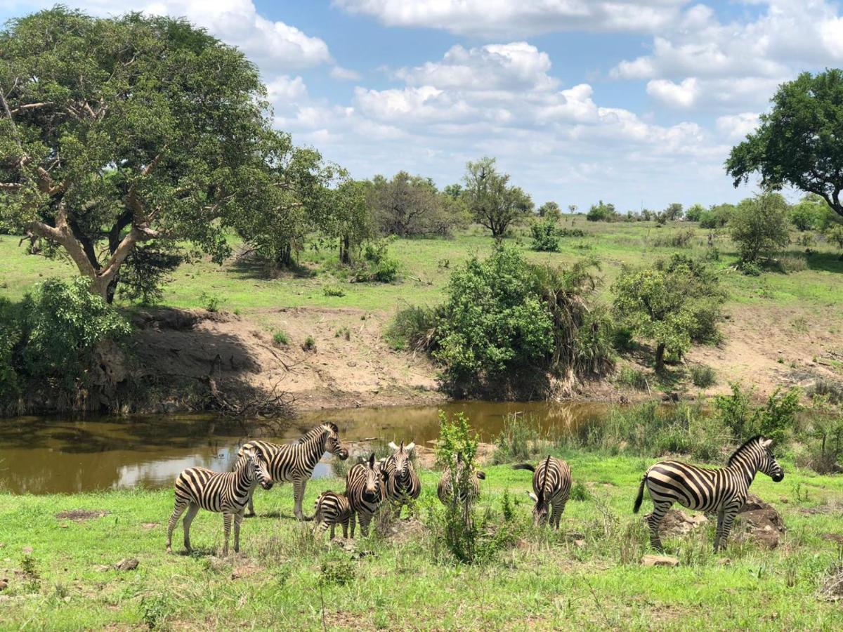
<svg viewBox="0 0 843 632">
<path fill-rule="evenodd" d="M 755 474 L 762 472 L 776 482 L 784 478 L 781 466 L 771 453 L 770 439 L 752 437 L 728 459 L 725 468 L 701 468 L 679 461 L 660 461 L 644 474 L 633 511 L 641 508 L 644 488 L 650 492 L 653 511 L 647 517 L 650 528 L 650 543 L 654 549 L 662 549 L 658 528 L 663 517 L 674 502 L 692 510 L 717 514 L 717 535 L 714 549 L 717 551 L 728 538 L 732 522 L 749 492 L 749 485 Z M 239 551 L 240 522 L 246 506 L 248 515 L 255 515 L 253 495 L 257 485 L 265 490 L 274 483 L 293 483 L 295 515 L 298 520 L 314 520 L 314 529 L 325 533 L 330 528 L 334 537 L 336 526 L 342 528 L 343 538 L 351 537 L 357 520 L 365 537 L 375 513 L 384 503 L 391 507 L 395 517 L 401 508 L 415 501 L 421 494 L 421 481 L 412 464 L 414 443 L 389 443 L 392 453 L 387 458 L 375 459 L 374 453 L 368 461 L 357 463 L 346 474 L 346 490 L 341 494 L 324 491 L 315 502 L 314 517 L 306 517 L 302 509 L 304 490 L 313 474 L 316 463 L 328 452 L 337 458 L 348 458 L 348 450 L 341 445 L 339 428 L 336 424 L 324 422 L 307 431 L 297 441 L 279 445 L 265 441 L 250 441 L 239 448 L 234 469 L 231 472 L 214 472 L 207 468 L 185 469 L 175 481 L 175 508 L 169 518 L 167 551 L 171 551 L 173 530 L 182 513 L 184 519 L 185 549 L 191 550 L 191 522 L 199 509 L 223 514 L 223 555 L 228 555 L 228 537 L 234 522 L 234 551 Z M 471 466 L 470 466 L 471 467 Z M 439 479 L 437 495 L 443 504 L 454 498 L 452 477 L 462 477 L 465 463 L 459 458 L 452 467 L 445 469 Z M 571 494 L 571 469 L 565 461 L 548 456 L 538 464 L 519 463 L 513 469 L 527 469 L 533 472 L 534 501 L 533 520 L 536 526 L 550 522 L 559 528 L 562 512 Z M 459 502 L 472 503 L 480 495 L 480 482 L 486 474 L 471 470 L 465 477 L 466 490 L 459 490 Z"/>
</svg>

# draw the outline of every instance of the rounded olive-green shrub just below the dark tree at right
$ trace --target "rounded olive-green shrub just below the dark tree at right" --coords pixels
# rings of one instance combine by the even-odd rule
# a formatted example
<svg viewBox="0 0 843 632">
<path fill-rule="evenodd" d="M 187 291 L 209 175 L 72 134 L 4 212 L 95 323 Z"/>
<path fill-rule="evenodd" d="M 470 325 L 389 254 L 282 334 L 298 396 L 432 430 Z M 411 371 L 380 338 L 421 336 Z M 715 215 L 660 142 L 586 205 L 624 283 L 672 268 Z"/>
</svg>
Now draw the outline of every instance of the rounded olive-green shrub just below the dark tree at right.
<svg viewBox="0 0 843 632">
<path fill-rule="evenodd" d="M 742 201 L 729 220 L 729 234 L 743 263 L 757 263 L 790 242 L 787 202 L 778 193 L 761 193 Z"/>
</svg>

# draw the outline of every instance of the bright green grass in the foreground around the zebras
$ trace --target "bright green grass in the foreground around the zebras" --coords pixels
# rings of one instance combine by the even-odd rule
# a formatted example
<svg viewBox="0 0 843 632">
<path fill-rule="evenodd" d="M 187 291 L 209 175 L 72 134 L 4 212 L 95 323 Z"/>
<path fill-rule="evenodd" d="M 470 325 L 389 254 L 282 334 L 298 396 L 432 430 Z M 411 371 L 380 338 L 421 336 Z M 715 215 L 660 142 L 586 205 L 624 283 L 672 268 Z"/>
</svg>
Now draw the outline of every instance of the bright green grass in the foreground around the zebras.
<svg viewBox="0 0 843 632">
<path fill-rule="evenodd" d="M 285 485 L 259 492 L 241 554 L 215 557 L 222 520 L 201 512 L 191 555 L 165 554 L 169 490 L 0 495 L 2 629 L 840 629 L 839 603 L 819 597 L 840 547 L 843 479 L 794 471 L 759 475 L 752 491 L 787 524 L 773 551 L 734 540 L 711 553 L 712 528 L 666 539 L 676 568 L 644 567 L 647 534 L 631 514 L 641 458 L 566 453 L 589 491 L 570 501 L 558 533 L 529 525 L 529 473 L 487 467 L 481 506 L 516 501 L 518 542 L 488 565 L 453 565 L 420 522 L 358 539 L 349 551 L 314 543 L 292 518 Z M 437 474 L 422 473 L 425 521 Z M 306 506 L 339 479 L 312 481 Z M 645 500 L 643 512 L 652 505 Z M 74 522 L 70 510 L 107 511 Z M 270 514 L 266 516 L 266 514 Z M 280 514 L 280 518 L 278 517 Z M 498 518 L 500 519 L 500 518 Z M 175 551 L 181 551 L 180 526 Z M 137 558 L 137 570 L 115 570 Z"/>
</svg>

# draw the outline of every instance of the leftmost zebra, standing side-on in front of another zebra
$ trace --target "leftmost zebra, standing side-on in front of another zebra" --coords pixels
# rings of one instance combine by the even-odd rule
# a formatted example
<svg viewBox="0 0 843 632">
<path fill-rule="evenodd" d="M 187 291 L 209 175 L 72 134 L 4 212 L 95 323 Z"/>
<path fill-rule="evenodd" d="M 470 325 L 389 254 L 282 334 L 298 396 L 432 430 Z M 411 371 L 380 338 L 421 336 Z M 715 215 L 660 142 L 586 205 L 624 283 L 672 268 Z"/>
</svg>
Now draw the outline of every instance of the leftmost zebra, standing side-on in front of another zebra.
<svg viewBox="0 0 843 632">
<path fill-rule="evenodd" d="M 243 463 L 234 472 L 214 472 L 207 468 L 185 469 L 175 479 L 175 508 L 167 528 L 167 552 L 171 552 L 173 529 L 179 517 L 185 515 L 185 549 L 191 551 L 191 522 L 199 509 L 223 514 L 223 556 L 228 555 L 228 533 L 234 517 L 234 552 L 240 549 L 240 522 L 243 509 L 255 481 L 265 490 L 272 487 L 266 461 L 254 450 L 244 450 Z"/>
</svg>

